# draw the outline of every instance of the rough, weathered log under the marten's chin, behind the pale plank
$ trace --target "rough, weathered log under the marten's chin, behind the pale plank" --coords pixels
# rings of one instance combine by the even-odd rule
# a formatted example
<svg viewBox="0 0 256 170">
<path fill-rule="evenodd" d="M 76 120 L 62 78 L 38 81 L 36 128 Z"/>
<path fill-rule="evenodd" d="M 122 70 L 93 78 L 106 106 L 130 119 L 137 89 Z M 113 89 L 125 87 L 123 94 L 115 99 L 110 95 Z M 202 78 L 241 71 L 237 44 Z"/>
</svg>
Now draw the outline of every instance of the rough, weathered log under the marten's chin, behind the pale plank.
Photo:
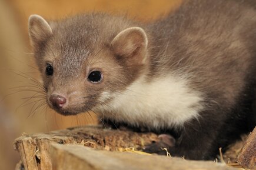
<svg viewBox="0 0 256 170">
<path fill-rule="evenodd" d="M 69 128 L 49 134 L 24 135 L 14 142 L 14 148 L 21 156 L 25 170 L 51 170 L 49 148 L 57 144 L 77 144 L 95 149 L 118 151 L 118 148 L 139 149 L 157 140 L 153 133 L 136 133 L 103 129 L 100 126 Z"/>
</svg>

